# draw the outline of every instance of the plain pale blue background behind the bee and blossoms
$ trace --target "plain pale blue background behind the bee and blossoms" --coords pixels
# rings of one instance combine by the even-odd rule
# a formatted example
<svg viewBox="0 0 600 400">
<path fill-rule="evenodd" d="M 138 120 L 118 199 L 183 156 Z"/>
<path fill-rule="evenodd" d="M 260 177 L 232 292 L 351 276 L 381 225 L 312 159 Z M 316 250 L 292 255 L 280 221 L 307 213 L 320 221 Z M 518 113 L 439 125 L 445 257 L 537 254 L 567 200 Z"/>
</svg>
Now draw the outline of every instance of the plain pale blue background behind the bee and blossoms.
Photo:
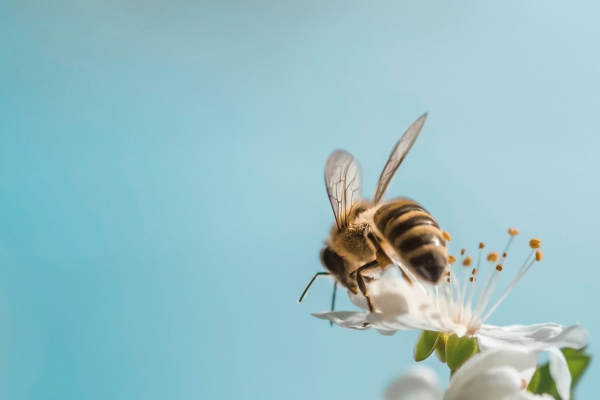
<svg viewBox="0 0 600 400">
<path fill-rule="evenodd" d="M 519 227 L 504 284 L 541 237 L 490 322 L 581 322 L 594 352 L 600 6 L 488 3 L 3 1 L 0 397 L 379 398 L 416 333 L 314 319 L 327 280 L 296 300 L 329 153 L 369 196 L 425 111 L 388 194 L 454 249 Z"/>
</svg>

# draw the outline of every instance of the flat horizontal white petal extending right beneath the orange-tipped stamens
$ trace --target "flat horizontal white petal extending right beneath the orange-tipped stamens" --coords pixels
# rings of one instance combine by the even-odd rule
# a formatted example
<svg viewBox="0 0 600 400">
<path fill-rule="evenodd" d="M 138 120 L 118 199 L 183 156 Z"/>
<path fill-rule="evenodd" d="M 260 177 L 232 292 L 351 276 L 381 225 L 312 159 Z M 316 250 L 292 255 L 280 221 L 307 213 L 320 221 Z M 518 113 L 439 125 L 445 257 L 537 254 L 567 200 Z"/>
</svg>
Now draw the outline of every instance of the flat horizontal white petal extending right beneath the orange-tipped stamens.
<svg viewBox="0 0 600 400">
<path fill-rule="evenodd" d="M 553 347 L 580 349 L 589 341 L 589 333 L 579 324 L 565 327 L 551 322 L 529 326 L 482 325 L 475 336 L 482 351 L 506 345 L 523 346 L 538 352 Z"/>
</svg>

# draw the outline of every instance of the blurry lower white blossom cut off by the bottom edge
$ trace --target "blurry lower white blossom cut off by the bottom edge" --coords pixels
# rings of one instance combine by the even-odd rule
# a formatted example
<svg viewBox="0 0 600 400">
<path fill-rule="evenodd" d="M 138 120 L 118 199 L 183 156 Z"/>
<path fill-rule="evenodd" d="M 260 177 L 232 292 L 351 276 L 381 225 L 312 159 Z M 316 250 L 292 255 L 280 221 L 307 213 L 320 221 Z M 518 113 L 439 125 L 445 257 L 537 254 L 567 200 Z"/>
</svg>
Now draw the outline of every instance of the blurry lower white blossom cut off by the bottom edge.
<svg viewBox="0 0 600 400">
<path fill-rule="evenodd" d="M 384 400 L 554 400 L 526 391 L 536 365 L 535 354 L 522 348 L 476 354 L 452 376 L 445 394 L 435 373 L 419 366 L 392 383 Z"/>
</svg>

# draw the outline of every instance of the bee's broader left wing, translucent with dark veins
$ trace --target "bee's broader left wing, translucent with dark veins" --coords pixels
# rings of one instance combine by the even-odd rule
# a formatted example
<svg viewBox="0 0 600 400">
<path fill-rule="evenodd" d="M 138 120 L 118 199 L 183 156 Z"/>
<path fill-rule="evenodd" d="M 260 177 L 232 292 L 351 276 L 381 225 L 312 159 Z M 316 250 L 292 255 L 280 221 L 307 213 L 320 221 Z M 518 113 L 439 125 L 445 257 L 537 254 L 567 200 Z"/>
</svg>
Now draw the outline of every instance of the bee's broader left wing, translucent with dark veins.
<svg viewBox="0 0 600 400">
<path fill-rule="evenodd" d="M 348 226 L 352 207 L 360 200 L 360 165 L 352 154 L 333 152 L 325 165 L 325 187 L 338 229 Z"/>
</svg>

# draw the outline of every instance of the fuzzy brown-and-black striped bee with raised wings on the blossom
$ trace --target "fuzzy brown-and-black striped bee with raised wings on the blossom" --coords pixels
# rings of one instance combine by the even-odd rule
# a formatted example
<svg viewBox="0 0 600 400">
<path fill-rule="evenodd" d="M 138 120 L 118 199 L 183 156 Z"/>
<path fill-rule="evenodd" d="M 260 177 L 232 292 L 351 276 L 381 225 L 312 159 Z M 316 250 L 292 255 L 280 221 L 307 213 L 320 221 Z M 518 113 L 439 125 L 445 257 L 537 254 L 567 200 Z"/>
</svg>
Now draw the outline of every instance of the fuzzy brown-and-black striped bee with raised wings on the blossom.
<svg viewBox="0 0 600 400">
<path fill-rule="evenodd" d="M 308 283 L 299 302 L 319 276 L 335 278 L 331 309 L 337 284 L 353 293 L 360 290 L 369 310 L 373 302 L 365 282 L 370 275 L 396 264 L 404 276 L 437 284 L 448 264 L 444 234 L 431 214 L 408 198 L 383 201 L 395 172 L 417 139 L 427 113 L 417 119 L 394 146 L 381 172 L 371 201 L 361 198 L 360 166 L 343 150 L 329 156 L 325 165 L 325 187 L 335 223 L 321 251 L 327 272 L 318 272 Z"/>
</svg>

